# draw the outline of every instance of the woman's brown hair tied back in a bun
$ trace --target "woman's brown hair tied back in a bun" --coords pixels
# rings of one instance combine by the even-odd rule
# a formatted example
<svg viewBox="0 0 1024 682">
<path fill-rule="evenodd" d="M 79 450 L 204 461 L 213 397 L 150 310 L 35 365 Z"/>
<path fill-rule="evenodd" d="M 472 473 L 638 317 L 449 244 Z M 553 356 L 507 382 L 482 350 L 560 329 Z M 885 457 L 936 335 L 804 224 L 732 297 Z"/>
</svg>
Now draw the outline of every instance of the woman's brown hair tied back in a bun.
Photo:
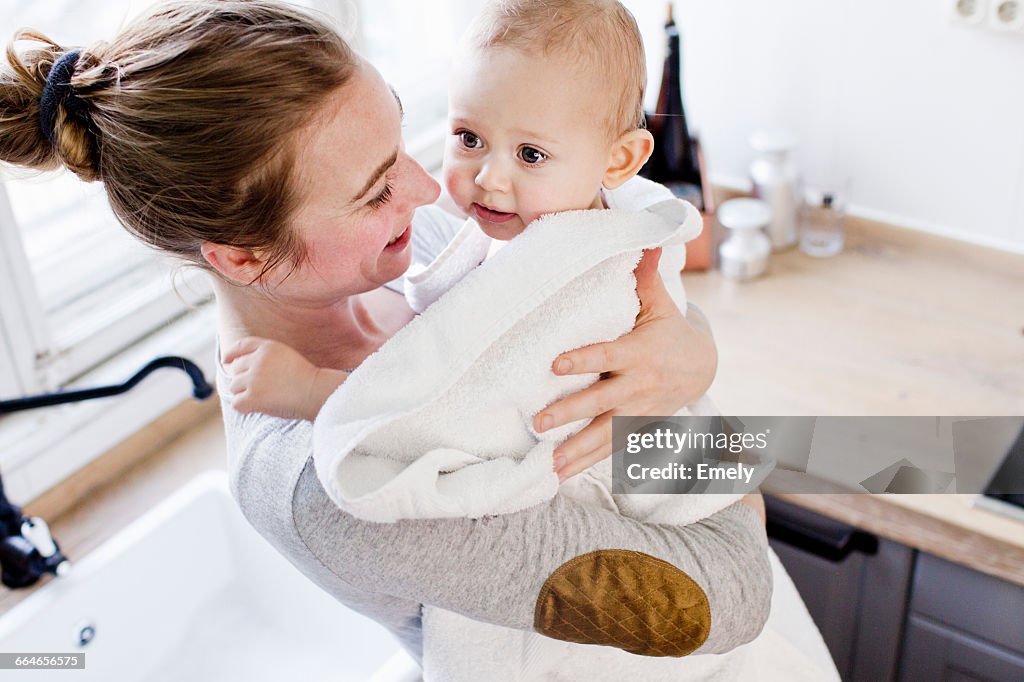
<svg viewBox="0 0 1024 682">
<path fill-rule="evenodd" d="M 298 132 L 357 63 L 337 32 L 272 0 L 182 0 L 66 53 L 33 31 L 8 44 L 0 161 L 101 180 L 125 227 L 203 267 L 203 242 L 262 251 L 260 276 L 302 261 Z M 70 92 L 54 97 L 58 61 Z"/>
</svg>

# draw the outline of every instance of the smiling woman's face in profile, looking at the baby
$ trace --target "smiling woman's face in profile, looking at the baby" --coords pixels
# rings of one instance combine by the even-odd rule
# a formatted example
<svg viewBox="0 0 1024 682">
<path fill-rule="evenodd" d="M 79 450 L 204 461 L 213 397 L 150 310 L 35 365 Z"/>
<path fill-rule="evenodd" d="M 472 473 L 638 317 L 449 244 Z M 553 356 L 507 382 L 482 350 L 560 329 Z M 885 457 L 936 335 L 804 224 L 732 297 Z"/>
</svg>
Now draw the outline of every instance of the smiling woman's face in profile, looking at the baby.
<svg viewBox="0 0 1024 682">
<path fill-rule="evenodd" d="M 328 98 L 304 135 L 296 172 L 292 228 L 307 257 L 291 274 L 288 267 L 271 274 L 275 295 L 330 305 L 409 268 L 413 212 L 440 187 L 406 154 L 401 104 L 369 63 Z"/>
</svg>

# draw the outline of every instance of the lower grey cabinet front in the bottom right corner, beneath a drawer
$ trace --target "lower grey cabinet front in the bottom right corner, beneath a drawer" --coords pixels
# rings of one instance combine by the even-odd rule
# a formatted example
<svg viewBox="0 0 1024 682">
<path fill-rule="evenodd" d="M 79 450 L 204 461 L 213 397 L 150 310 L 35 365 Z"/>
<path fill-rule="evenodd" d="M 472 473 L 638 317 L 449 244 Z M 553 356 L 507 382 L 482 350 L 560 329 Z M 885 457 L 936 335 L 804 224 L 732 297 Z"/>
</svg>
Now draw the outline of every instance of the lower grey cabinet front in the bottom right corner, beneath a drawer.
<svg viewBox="0 0 1024 682">
<path fill-rule="evenodd" d="M 920 615 L 907 623 L 901 681 L 1019 682 L 1024 656 Z"/>
</svg>

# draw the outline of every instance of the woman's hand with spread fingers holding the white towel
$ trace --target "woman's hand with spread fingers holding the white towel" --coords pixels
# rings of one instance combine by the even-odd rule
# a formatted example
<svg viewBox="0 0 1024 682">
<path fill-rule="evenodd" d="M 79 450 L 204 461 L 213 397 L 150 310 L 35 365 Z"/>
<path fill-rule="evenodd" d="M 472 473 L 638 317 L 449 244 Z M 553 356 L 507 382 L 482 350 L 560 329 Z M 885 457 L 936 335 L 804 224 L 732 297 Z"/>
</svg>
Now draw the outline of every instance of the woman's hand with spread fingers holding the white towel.
<svg viewBox="0 0 1024 682">
<path fill-rule="evenodd" d="M 552 364 L 558 375 L 602 374 L 601 381 L 553 402 L 534 419 L 541 432 L 593 418 L 555 450 L 561 480 L 611 454 L 612 417 L 675 414 L 703 395 L 715 379 L 715 342 L 676 307 L 657 271 L 660 257 L 660 249 L 647 251 L 637 265 L 640 313 L 632 332 L 562 353 Z"/>
</svg>

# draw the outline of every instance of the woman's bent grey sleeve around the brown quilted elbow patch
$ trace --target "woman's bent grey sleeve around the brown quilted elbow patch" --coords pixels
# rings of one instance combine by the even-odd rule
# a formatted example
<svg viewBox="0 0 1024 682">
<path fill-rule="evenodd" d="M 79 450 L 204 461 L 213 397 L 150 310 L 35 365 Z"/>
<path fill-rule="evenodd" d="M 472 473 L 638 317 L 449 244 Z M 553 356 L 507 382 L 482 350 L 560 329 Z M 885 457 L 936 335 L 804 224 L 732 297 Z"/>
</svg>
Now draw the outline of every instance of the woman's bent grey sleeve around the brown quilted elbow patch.
<svg viewBox="0 0 1024 682">
<path fill-rule="evenodd" d="M 699 586 L 695 593 L 700 603 L 690 604 L 685 613 L 674 613 L 685 619 L 703 608 L 710 614 L 710 630 L 697 628 L 693 644 L 698 653 L 720 653 L 751 641 L 768 616 L 771 567 L 763 521 L 742 503 L 688 526 L 645 524 L 563 497 L 478 520 L 372 523 L 339 510 L 319 485 L 310 462 L 295 491 L 293 513 L 310 551 L 352 587 L 504 627 L 545 632 L 552 603 L 559 602 L 541 600 L 542 590 L 549 596 L 564 596 L 557 585 L 552 591 L 549 579 L 564 573 L 573 565 L 568 562 L 608 549 L 646 555 L 630 555 L 641 557 L 638 571 L 649 566 L 649 557 L 663 559 Z M 635 578 L 649 589 L 649 576 Z M 685 596 L 666 590 L 668 603 Z M 592 595 L 574 608 L 598 614 L 624 601 L 640 610 L 648 606 L 646 593 L 613 595 L 599 590 Z M 615 603 L 602 603 L 613 597 Z"/>
</svg>

